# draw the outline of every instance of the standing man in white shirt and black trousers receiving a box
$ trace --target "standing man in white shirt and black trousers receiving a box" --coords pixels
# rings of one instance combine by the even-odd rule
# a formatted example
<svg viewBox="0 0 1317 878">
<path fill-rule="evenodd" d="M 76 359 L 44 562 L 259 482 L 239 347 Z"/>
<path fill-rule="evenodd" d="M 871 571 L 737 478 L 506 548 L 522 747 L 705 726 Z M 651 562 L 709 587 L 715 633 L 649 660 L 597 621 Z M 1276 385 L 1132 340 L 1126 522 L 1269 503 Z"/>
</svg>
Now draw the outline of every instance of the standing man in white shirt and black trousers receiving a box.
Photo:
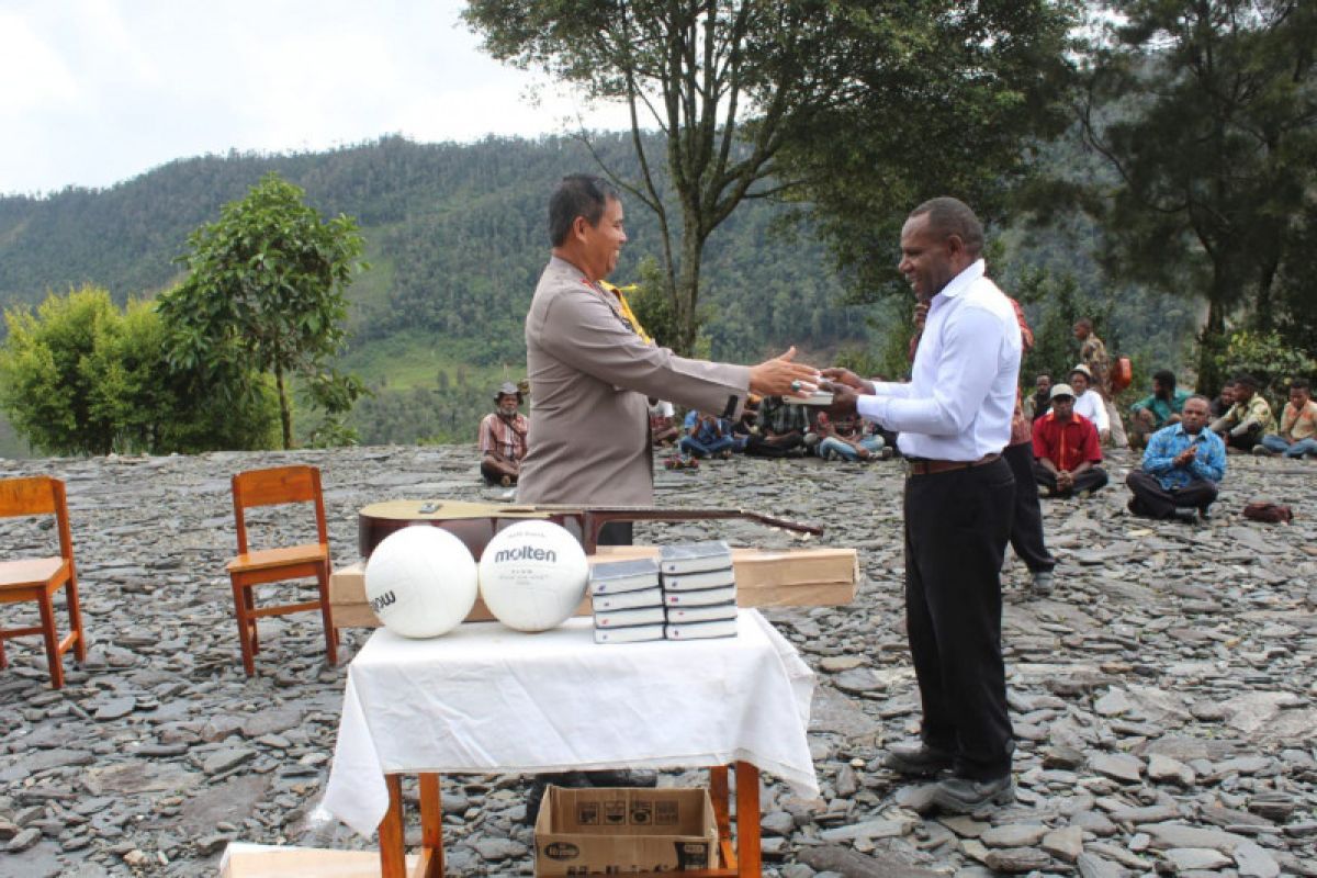
<svg viewBox="0 0 1317 878">
<path fill-rule="evenodd" d="M 909 384 L 824 370 L 831 412 L 900 433 L 905 486 L 906 629 L 923 704 L 922 742 L 892 748 L 888 767 L 938 777 L 932 803 L 982 813 L 1014 798 L 1001 656 L 1001 563 L 1015 483 L 1010 441 L 1021 334 L 985 276 L 982 225 L 939 197 L 910 213 L 900 270 L 928 303 Z M 1022 486 L 1031 491 L 1034 487 Z"/>
</svg>

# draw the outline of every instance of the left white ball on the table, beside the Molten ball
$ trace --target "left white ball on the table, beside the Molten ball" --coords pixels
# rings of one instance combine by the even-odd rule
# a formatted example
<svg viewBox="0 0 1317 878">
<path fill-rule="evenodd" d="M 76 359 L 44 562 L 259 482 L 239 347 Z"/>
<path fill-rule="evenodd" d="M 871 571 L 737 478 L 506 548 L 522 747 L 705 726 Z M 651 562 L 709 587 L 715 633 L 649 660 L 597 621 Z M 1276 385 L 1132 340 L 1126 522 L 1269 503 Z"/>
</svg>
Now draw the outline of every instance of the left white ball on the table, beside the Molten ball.
<svg viewBox="0 0 1317 878">
<path fill-rule="evenodd" d="M 478 577 L 461 540 L 428 524 L 412 525 L 390 533 L 370 554 L 366 600 L 395 634 L 439 637 L 471 612 Z"/>
</svg>

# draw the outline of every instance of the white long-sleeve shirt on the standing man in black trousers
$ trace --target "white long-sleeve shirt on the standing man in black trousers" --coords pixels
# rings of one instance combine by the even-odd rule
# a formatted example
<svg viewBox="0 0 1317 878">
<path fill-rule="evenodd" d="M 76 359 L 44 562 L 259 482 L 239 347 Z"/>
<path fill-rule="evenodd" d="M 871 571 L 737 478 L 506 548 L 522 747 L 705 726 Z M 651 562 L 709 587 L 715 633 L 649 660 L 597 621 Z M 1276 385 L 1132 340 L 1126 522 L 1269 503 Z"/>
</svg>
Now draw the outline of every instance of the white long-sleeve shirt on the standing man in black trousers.
<svg viewBox="0 0 1317 878">
<path fill-rule="evenodd" d="M 860 415 L 901 433 L 906 457 L 977 461 L 1010 441 L 1019 324 L 979 259 L 928 303 L 909 384 L 876 383 Z"/>
</svg>

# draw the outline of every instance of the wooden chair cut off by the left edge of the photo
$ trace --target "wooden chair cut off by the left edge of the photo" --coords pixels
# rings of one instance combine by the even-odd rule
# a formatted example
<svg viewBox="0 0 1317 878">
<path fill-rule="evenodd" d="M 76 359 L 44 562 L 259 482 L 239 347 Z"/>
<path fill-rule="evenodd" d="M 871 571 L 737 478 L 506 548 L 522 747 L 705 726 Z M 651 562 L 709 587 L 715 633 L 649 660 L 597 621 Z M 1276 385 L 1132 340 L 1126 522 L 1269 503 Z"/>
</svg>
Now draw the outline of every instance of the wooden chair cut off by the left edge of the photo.
<svg viewBox="0 0 1317 878">
<path fill-rule="evenodd" d="M 65 684 L 63 656 L 70 649 L 79 662 L 87 661 L 87 638 L 78 607 L 78 570 L 74 565 L 74 540 L 68 530 L 68 504 L 65 483 L 49 475 L 0 479 L 0 517 L 53 515 L 59 529 L 59 554 L 49 558 L 22 558 L 0 562 L 0 604 L 34 600 L 41 611 L 41 624 L 29 628 L 0 629 L 0 667 L 8 667 L 4 641 L 8 637 L 41 634 L 46 641 L 50 684 Z M 68 634 L 61 640 L 55 632 L 54 595 L 65 588 L 68 604 Z"/>
</svg>

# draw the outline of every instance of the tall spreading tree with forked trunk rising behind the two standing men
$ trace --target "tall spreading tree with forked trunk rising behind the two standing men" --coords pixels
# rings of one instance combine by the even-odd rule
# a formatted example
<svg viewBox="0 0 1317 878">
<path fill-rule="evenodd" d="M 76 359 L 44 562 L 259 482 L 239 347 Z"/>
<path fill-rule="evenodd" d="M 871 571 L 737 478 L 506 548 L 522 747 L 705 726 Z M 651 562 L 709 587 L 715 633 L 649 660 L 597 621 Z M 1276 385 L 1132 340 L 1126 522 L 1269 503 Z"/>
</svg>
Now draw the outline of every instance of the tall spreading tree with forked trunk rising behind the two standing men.
<svg viewBox="0 0 1317 878">
<path fill-rule="evenodd" d="M 846 201 L 855 180 L 836 171 L 872 175 L 869 162 L 846 159 L 876 153 L 888 158 L 882 170 L 918 172 L 927 150 L 917 140 L 884 137 L 893 128 L 919 130 L 901 109 L 919 103 L 922 116 L 939 118 L 931 130 L 952 129 L 959 137 L 965 129 L 948 120 L 968 121 L 967 107 L 992 116 L 985 101 L 1033 101 L 1018 91 L 1005 95 L 994 72 L 982 71 L 1005 68 L 994 62 L 998 55 L 1017 63 L 1021 46 L 1036 61 L 1034 37 L 1065 20 L 1060 9 L 1042 1 L 470 0 L 465 17 L 494 57 L 541 67 L 590 97 L 626 103 L 641 172 L 637 180 L 610 175 L 658 217 L 678 326 L 673 346 L 690 351 L 705 244 L 738 204 L 793 192 L 813 197 L 814 187 L 831 187 L 835 200 Z M 964 41 L 976 51 L 956 50 Z M 955 51 L 940 55 L 946 49 Z M 1048 51 L 1051 65 L 1059 45 Z M 957 86 L 969 88 L 957 92 Z M 905 97 L 906 88 L 925 100 L 889 108 L 885 99 Z M 947 100 L 948 93 L 955 97 Z M 840 118 L 863 125 L 846 130 L 828 121 Z M 662 134 L 666 167 L 647 154 L 647 126 Z M 992 125 L 975 130 L 1015 145 L 1031 126 L 1001 129 L 1005 136 Z M 840 153 L 836 141 L 844 145 Z M 802 149 L 788 166 L 780 159 L 792 143 Z M 977 157 L 968 172 L 997 174 L 990 166 L 990 155 Z M 868 191 L 880 188 L 871 182 Z"/>
</svg>

